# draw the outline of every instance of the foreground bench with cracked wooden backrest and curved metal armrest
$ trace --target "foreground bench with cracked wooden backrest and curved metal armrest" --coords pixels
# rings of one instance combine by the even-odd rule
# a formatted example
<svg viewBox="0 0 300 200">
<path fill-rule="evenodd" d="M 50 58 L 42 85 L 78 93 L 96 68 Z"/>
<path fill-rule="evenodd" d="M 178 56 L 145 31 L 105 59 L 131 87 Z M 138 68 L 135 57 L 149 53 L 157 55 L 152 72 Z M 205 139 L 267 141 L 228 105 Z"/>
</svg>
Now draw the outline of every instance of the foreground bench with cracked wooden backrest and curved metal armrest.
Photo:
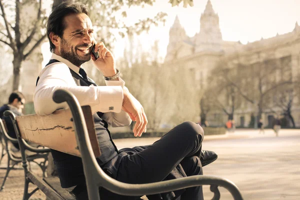
<svg viewBox="0 0 300 200">
<path fill-rule="evenodd" d="M 18 141 L 26 176 L 25 185 L 28 185 L 29 181 L 32 182 L 50 199 L 75 198 L 60 187 L 57 178 L 41 179 L 28 170 L 27 159 L 23 153 L 22 139 L 80 156 L 86 179 L 88 199 L 90 200 L 99 199 L 99 187 L 104 187 L 122 195 L 142 196 L 144 194 L 155 194 L 207 184 L 211 185 L 210 189 L 214 191 L 213 199 L 219 199 L 220 197 L 217 189 L 218 185 L 225 187 L 235 200 L 242 199 L 241 193 L 233 182 L 217 176 L 195 175 L 146 184 L 128 184 L 109 177 L 99 167 L 95 158 L 100 155 L 100 150 L 94 131 L 90 107 L 80 107 L 75 96 L 62 89 L 54 92 L 53 100 L 56 103 L 66 101 L 70 109 L 56 110 L 48 116 L 26 115 L 14 117 L 12 112 L 7 111 L 4 113 L 14 120 L 15 129 L 18 132 Z M 23 199 L 27 199 L 27 196 L 27 188 L 25 188 Z"/>
</svg>

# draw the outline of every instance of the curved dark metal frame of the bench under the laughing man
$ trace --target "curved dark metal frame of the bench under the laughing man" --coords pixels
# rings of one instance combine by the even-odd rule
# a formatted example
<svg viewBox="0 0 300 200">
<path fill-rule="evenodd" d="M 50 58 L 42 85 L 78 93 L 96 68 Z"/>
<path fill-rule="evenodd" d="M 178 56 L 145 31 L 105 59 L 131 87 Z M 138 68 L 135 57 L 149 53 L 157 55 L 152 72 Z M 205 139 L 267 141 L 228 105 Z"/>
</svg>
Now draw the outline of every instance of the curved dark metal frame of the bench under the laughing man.
<svg viewBox="0 0 300 200">
<path fill-rule="evenodd" d="M 217 185 L 225 187 L 235 200 L 242 200 L 242 195 L 237 186 L 228 179 L 212 175 L 193 175 L 184 178 L 166 180 L 145 184 L 128 184 L 117 181 L 109 177 L 98 165 L 93 154 L 92 146 L 89 140 L 85 119 L 78 100 L 69 91 L 58 89 L 53 94 L 53 100 L 56 103 L 67 102 L 72 114 L 72 122 L 75 129 L 76 141 L 81 153 L 87 193 L 89 199 L 100 199 L 99 187 L 104 187 L 114 193 L 129 196 L 142 196 L 144 194 L 156 194 L 167 191 L 174 191 L 186 187 L 197 185 L 211 185 L 211 189 L 215 190 Z M 22 152 L 22 163 L 25 171 L 25 187 L 28 186 L 28 178 L 35 184 L 41 185 L 40 188 L 50 199 L 62 199 L 51 187 L 44 185 L 44 181 L 38 179 L 27 169 L 27 159 L 24 154 L 24 146 L 18 131 L 17 122 L 12 112 L 4 112 L 5 116 L 10 116 L 14 121 L 14 128 L 18 132 L 18 142 Z M 24 191 L 25 194 L 25 191 Z M 25 198 L 23 198 L 25 199 Z M 215 193 L 213 199 L 219 199 L 219 193 Z"/>
</svg>

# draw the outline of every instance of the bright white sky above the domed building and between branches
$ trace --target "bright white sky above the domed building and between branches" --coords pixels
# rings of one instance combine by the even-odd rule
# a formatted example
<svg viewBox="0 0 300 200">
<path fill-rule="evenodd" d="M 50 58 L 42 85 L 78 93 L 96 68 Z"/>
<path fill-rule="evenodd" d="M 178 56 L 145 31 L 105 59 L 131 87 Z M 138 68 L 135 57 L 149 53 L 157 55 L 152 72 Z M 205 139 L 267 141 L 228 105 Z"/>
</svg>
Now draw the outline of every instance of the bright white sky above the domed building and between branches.
<svg viewBox="0 0 300 200">
<path fill-rule="evenodd" d="M 262 38 L 269 38 L 293 30 L 295 22 L 300 25 L 300 0 L 210 0 L 212 7 L 219 16 L 219 26 L 222 39 L 240 41 L 245 44 Z M 178 15 L 181 25 L 188 36 L 199 32 L 200 16 L 205 9 L 207 0 L 193 0 L 194 6 L 183 8 L 183 4 L 172 7 L 168 0 L 156 0 L 153 6 L 131 7 L 127 11 L 127 24 L 133 24 L 138 19 L 153 17 L 157 12 L 167 13 L 164 26 L 153 27 L 148 34 L 141 34 L 138 39 L 145 51 L 148 51 L 155 40 L 159 41 L 159 54 L 163 59 L 168 44 L 169 28 Z M 115 57 L 123 55 L 126 41 L 116 38 L 113 50 Z M 48 50 L 45 43 L 42 49 Z M 50 54 L 43 52 L 44 62 Z"/>
</svg>

